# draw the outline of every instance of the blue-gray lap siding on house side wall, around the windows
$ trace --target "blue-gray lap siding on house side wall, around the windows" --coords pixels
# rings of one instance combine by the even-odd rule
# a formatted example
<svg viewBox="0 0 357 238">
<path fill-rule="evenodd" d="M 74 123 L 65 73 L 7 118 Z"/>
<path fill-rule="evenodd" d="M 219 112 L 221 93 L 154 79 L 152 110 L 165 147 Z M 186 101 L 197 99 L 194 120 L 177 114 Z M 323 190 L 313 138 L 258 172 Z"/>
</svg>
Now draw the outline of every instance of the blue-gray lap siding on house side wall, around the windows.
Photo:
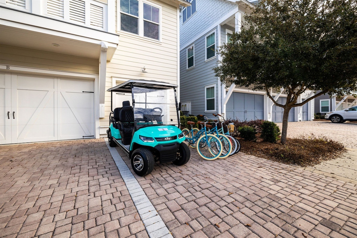
<svg viewBox="0 0 357 238">
<path fill-rule="evenodd" d="M 217 42 L 217 29 L 216 42 Z M 180 52 L 180 100 L 181 102 L 191 101 L 191 113 L 193 115 L 205 112 L 205 86 L 216 85 L 216 111 L 217 111 L 217 77 L 212 70 L 217 66 L 217 56 L 205 62 L 206 36 L 195 41 L 195 67 L 186 69 L 186 49 Z M 217 43 L 216 43 L 217 46 Z"/>
</svg>

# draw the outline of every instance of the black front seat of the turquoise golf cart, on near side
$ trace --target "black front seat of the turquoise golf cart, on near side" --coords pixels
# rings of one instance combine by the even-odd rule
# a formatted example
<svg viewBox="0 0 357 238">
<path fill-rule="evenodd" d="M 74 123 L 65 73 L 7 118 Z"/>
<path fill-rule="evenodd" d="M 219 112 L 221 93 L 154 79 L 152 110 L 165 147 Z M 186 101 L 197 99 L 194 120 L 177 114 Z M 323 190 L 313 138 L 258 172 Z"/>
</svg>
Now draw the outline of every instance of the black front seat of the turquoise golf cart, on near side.
<svg viewBox="0 0 357 238">
<path fill-rule="evenodd" d="M 119 112 L 119 132 L 123 145 L 131 142 L 132 131 L 134 130 L 134 111 L 129 101 L 123 102 L 123 107 Z"/>
</svg>

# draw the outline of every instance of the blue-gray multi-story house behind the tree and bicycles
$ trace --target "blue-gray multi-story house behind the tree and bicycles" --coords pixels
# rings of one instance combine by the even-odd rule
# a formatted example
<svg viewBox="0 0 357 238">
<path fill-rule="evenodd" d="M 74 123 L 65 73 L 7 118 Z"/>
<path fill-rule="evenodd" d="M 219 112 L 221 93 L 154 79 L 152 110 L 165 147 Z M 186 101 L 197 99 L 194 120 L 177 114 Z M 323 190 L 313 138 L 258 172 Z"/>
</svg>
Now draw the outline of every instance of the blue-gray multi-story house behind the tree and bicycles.
<svg viewBox="0 0 357 238">
<path fill-rule="evenodd" d="M 283 110 L 275 106 L 263 91 L 252 91 L 235 85 L 221 85 L 212 70 L 220 55 L 215 50 L 230 40 L 233 31 L 245 24 L 253 1 L 190 0 L 191 6 L 181 9 L 180 16 L 180 101 L 187 114 L 207 116 L 219 113 L 238 120 L 264 119 L 281 122 Z M 280 103 L 284 92 L 273 94 Z M 302 102 L 311 97 L 307 92 Z M 314 101 L 292 108 L 289 121 L 313 119 Z"/>
</svg>

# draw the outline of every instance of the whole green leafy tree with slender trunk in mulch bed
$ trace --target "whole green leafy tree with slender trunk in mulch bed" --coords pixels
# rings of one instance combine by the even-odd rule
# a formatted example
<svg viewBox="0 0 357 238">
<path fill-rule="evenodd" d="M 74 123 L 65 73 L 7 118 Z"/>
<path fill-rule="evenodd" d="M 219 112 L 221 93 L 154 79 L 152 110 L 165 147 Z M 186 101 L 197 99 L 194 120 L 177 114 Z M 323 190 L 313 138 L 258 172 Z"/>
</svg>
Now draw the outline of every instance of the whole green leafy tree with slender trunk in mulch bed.
<svg viewBox="0 0 357 238">
<path fill-rule="evenodd" d="M 292 107 L 357 91 L 356 0 L 262 0 L 244 19 L 213 70 L 222 83 L 266 91 L 284 108 L 282 143 Z M 271 95 L 281 88 L 285 105 Z M 306 90 L 318 93 L 297 103 Z"/>
</svg>

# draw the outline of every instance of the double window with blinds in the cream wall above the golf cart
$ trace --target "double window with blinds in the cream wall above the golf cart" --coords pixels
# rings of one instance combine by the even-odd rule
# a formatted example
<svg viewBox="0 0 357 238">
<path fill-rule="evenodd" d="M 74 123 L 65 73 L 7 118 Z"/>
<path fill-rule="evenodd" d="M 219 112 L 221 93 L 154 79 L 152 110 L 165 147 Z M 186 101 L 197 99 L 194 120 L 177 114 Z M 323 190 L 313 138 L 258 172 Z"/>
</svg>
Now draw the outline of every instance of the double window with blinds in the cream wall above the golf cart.
<svg viewBox="0 0 357 238">
<path fill-rule="evenodd" d="M 120 30 L 160 40 L 160 8 L 142 0 L 120 0 Z"/>
</svg>

